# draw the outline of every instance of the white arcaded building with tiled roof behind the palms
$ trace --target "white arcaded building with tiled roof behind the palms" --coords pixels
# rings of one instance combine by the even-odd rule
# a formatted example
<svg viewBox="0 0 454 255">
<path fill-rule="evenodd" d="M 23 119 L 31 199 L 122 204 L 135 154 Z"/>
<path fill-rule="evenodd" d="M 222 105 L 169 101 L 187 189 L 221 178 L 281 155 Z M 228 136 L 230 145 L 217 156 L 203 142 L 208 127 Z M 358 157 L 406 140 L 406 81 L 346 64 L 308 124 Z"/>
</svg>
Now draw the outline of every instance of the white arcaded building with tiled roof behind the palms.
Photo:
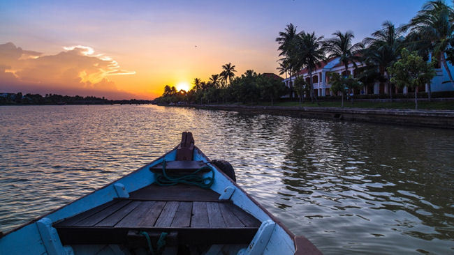
<svg viewBox="0 0 454 255">
<path fill-rule="evenodd" d="M 430 56 L 431 58 L 432 56 Z M 436 91 L 454 91 L 454 86 L 449 82 L 449 76 L 448 72 L 446 72 L 446 69 L 440 65 L 441 61 L 437 61 L 435 66 L 435 71 L 437 72 L 437 75 L 432 79 L 431 82 L 431 90 L 432 92 Z M 453 65 L 451 65 L 449 62 L 448 68 L 451 70 L 451 74 L 454 75 L 454 68 Z M 339 58 L 333 58 L 333 59 L 328 59 L 328 61 L 323 61 L 318 64 L 316 70 L 312 71 L 312 84 L 314 85 L 314 93 L 318 96 L 325 96 L 325 95 L 333 95 L 332 91 L 330 91 L 330 78 L 329 78 L 329 73 L 330 72 L 337 72 L 340 75 L 346 75 L 348 73 L 349 75 L 353 75 L 353 77 L 358 77 L 360 72 L 363 71 L 365 68 L 364 63 L 356 62 L 356 68 L 353 67 L 353 63 L 349 64 L 349 68 L 346 71 L 344 67 L 344 63 L 339 61 Z M 309 83 L 309 72 L 307 68 L 301 70 L 298 72 L 298 76 L 303 76 L 305 77 L 305 81 Z M 284 83 L 286 84 L 287 87 L 290 87 L 293 85 L 293 81 L 296 78 L 295 76 L 289 77 L 287 79 L 284 79 Z M 428 86 L 427 84 L 425 86 L 420 86 L 417 88 L 418 92 L 427 92 L 428 91 Z M 367 94 L 388 94 L 388 84 L 386 82 L 371 82 L 370 84 L 365 84 L 363 88 L 360 88 L 354 93 L 356 95 L 367 95 Z M 395 86 L 395 91 L 393 93 L 410 93 L 414 92 L 413 88 L 397 88 Z M 296 92 L 293 91 L 293 95 L 296 96 Z M 340 95 L 340 92 L 339 92 Z M 289 95 L 286 95 L 288 97 Z"/>
</svg>

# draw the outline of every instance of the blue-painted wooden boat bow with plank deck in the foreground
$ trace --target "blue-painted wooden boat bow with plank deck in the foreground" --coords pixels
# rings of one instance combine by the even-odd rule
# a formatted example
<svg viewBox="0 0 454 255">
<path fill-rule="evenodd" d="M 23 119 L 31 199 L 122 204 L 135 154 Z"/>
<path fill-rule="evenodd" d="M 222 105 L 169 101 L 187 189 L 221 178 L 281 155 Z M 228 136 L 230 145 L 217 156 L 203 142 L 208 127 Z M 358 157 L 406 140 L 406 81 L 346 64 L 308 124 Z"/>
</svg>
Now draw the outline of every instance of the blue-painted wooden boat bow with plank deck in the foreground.
<svg viewBox="0 0 454 255">
<path fill-rule="evenodd" d="M 244 192 L 232 171 L 184 132 L 154 162 L 2 235 L 0 254 L 321 254 Z M 166 183 L 175 175 L 192 180 Z"/>
</svg>

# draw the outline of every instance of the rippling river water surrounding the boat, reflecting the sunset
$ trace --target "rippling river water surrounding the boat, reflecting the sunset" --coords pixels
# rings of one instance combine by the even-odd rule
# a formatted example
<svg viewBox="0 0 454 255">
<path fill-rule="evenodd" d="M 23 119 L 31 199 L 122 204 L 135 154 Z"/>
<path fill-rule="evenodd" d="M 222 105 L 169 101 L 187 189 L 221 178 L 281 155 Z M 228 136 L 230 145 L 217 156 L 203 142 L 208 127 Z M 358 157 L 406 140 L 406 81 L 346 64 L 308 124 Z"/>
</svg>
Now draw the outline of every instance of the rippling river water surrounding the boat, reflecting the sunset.
<svg viewBox="0 0 454 255">
<path fill-rule="evenodd" d="M 454 253 L 454 130 L 154 105 L 0 107 L 0 230 L 138 169 L 186 130 L 324 254 Z"/>
</svg>

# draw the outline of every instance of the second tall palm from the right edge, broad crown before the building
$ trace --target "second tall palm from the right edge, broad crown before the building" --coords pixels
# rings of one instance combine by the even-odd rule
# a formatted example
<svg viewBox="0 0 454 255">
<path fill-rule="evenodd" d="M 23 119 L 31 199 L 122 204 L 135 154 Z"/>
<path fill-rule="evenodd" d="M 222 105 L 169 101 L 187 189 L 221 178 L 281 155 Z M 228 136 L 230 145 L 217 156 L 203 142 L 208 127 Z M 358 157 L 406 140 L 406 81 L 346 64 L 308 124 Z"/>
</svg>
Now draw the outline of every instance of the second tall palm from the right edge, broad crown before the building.
<svg viewBox="0 0 454 255">
<path fill-rule="evenodd" d="M 368 46 L 363 52 L 363 59 L 369 65 L 376 65 L 379 72 L 386 76 L 391 101 L 393 100 L 393 84 L 390 82 L 386 69 L 393 65 L 399 57 L 403 42 L 402 33 L 401 29 L 395 28 L 393 22 L 385 21 L 381 24 L 381 29 L 371 34 L 372 37 L 363 40 L 363 43 Z"/>
</svg>

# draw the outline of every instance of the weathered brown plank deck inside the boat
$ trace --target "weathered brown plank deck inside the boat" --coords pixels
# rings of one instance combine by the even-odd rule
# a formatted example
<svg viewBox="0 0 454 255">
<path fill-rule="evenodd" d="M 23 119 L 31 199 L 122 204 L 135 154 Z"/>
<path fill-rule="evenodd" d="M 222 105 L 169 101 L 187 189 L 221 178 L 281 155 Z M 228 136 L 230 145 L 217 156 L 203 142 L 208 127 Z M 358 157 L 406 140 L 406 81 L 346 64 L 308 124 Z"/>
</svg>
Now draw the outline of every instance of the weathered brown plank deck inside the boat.
<svg viewBox="0 0 454 255">
<path fill-rule="evenodd" d="M 61 242 L 126 243 L 146 231 L 150 235 L 173 233 L 174 242 L 179 244 L 247 244 L 260 226 L 258 219 L 230 201 L 217 200 L 219 194 L 212 190 L 186 185 L 154 186 L 132 192 L 129 199 L 114 199 L 54 224 Z M 154 189 L 161 190 L 160 196 Z M 186 199 L 170 200 L 179 198 L 182 193 L 178 190 L 186 190 Z M 196 196 L 191 196 L 191 192 Z M 188 201 L 191 197 L 193 201 Z"/>
</svg>

